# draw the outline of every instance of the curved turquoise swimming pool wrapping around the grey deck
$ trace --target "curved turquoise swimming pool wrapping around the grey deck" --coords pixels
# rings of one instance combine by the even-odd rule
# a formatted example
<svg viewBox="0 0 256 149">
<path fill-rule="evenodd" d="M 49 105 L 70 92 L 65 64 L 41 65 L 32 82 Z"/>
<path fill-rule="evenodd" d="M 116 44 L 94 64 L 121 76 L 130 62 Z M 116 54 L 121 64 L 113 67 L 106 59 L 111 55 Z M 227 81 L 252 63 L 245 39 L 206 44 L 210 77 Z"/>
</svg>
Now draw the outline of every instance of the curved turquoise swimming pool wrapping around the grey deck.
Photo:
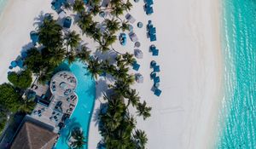
<svg viewBox="0 0 256 149">
<path fill-rule="evenodd" d="M 78 80 L 75 92 L 79 97 L 79 101 L 73 115 L 66 123 L 66 127 L 61 129 L 61 136 L 54 149 L 68 149 L 67 137 L 74 127 L 81 127 L 84 131 L 85 141 L 88 141 L 90 117 L 96 96 L 96 85 L 94 79 L 92 79 L 90 73 L 84 66 L 85 65 L 79 61 L 76 61 L 69 66 L 70 72 L 73 72 Z M 84 145 L 84 149 L 87 149 L 87 147 L 87 144 Z"/>
</svg>

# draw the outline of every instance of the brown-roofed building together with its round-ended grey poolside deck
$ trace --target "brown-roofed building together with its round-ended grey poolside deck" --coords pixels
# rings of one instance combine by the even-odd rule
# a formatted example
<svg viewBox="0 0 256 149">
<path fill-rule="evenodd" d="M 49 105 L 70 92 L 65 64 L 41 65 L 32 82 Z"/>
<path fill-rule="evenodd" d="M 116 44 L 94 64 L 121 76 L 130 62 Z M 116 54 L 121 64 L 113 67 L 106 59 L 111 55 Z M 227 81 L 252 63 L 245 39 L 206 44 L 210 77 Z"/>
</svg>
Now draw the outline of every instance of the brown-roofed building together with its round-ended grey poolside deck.
<svg viewBox="0 0 256 149">
<path fill-rule="evenodd" d="M 27 115 L 12 141 L 11 149 L 50 149 L 78 102 L 77 79 L 71 72 L 57 72 L 49 84 L 33 83 L 29 95 L 37 105 Z"/>
</svg>

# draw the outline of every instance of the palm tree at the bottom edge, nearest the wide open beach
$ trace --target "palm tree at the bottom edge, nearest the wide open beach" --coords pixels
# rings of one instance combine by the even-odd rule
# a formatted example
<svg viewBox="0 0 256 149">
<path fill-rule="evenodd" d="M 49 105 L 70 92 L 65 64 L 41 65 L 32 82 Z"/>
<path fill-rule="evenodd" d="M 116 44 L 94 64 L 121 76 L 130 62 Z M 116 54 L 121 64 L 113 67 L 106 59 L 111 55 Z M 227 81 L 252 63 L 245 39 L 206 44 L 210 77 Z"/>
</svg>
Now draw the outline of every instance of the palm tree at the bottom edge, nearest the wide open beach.
<svg viewBox="0 0 256 149">
<path fill-rule="evenodd" d="M 144 149 L 145 145 L 148 142 L 147 135 L 145 131 L 137 129 L 135 130 L 135 134 L 133 135 L 134 140 L 137 143 L 137 149 Z"/>
</svg>

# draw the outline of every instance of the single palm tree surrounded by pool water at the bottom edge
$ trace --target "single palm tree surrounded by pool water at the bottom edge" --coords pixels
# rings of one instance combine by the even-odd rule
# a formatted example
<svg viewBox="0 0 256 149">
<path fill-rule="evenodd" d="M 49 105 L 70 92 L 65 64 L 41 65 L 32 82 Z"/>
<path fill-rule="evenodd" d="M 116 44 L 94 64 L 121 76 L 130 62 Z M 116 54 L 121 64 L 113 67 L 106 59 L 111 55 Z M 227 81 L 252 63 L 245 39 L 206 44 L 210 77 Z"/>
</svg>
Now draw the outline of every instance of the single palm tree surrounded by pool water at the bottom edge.
<svg viewBox="0 0 256 149">
<path fill-rule="evenodd" d="M 73 142 L 71 146 L 75 146 L 77 149 L 82 149 L 84 144 L 86 143 L 84 140 L 84 132 L 80 129 L 75 129 L 72 132 Z"/>
</svg>

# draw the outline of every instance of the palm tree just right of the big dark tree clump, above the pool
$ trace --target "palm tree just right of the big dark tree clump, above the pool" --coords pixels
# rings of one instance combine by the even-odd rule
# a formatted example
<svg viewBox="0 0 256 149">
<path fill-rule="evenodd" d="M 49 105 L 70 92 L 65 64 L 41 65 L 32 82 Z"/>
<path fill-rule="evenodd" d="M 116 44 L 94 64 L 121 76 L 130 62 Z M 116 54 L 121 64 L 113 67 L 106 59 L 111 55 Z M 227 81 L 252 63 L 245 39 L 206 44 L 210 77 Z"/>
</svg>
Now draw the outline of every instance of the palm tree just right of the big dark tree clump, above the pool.
<svg viewBox="0 0 256 149">
<path fill-rule="evenodd" d="M 81 41 L 81 37 L 75 31 L 67 32 L 64 39 L 66 40 L 67 51 L 70 51 L 68 47 L 70 47 L 70 49 L 77 48 L 79 46 L 79 42 Z"/>
</svg>

